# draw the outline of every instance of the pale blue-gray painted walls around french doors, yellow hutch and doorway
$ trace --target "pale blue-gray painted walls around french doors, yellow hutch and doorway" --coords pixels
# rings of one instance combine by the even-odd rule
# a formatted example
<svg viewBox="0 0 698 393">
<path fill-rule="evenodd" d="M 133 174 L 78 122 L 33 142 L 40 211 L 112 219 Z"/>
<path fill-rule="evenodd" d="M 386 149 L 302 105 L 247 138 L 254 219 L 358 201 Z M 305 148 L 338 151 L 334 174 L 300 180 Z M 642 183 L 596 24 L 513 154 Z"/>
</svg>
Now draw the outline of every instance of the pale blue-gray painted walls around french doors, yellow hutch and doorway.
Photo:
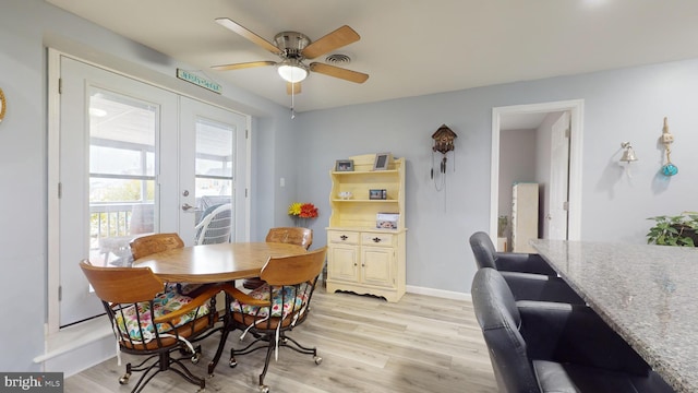
<svg viewBox="0 0 698 393">
<path fill-rule="evenodd" d="M 661 32 L 660 32 L 661 33 Z M 3 312 L 0 370 L 38 370 L 44 353 L 47 285 L 46 43 L 79 43 L 163 75 L 172 59 L 118 37 L 40 0 L 0 5 L 0 87 L 8 114 L 0 123 L 0 263 Z M 108 58 L 105 58 L 108 59 Z M 183 64 L 185 66 L 185 64 Z M 254 115 L 252 239 L 290 224 L 292 201 L 313 202 L 314 246 L 326 242 L 328 171 L 335 159 L 393 152 L 407 158 L 407 283 L 469 293 L 474 262 L 467 237 L 489 228 L 492 108 L 583 99 L 582 226 L 586 240 L 645 242 L 648 216 L 698 210 L 698 61 L 472 88 L 300 114 L 224 85 L 238 109 Z M 238 105 L 239 104 L 239 105 Z M 675 135 L 678 176 L 658 176 L 662 119 Z M 457 134 L 446 189 L 430 178 L 431 134 Z M 619 144 L 633 142 L 639 162 L 627 176 Z M 452 171 L 455 169 L 455 171 Z M 286 188 L 279 187 L 279 178 Z"/>
</svg>

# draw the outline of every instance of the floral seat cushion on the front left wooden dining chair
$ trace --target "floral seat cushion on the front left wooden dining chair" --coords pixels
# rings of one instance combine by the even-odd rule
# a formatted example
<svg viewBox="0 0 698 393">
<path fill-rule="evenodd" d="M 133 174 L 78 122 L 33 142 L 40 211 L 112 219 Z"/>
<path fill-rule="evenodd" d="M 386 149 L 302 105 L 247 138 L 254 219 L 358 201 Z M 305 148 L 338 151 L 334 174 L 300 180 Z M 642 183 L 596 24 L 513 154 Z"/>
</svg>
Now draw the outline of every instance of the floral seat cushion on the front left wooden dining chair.
<svg viewBox="0 0 698 393">
<path fill-rule="evenodd" d="M 119 329 L 119 332 L 123 335 L 128 335 L 132 341 L 141 341 L 148 342 L 155 338 L 155 332 L 153 326 L 153 315 L 155 318 L 168 314 L 172 311 L 177 311 L 182 306 L 192 301 L 192 298 L 189 296 L 180 295 L 176 291 L 165 291 L 164 294 L 159 294 L 153 301 L 154 310 L 151 310 L 151 305 L 148 302 L 140 302 L 137 305 L 132 305 L 123 310 L 117 310 L 116 312 L 116 325 Z M 139 312 L 136 317 L 137 306 Z M 209 312 L 208 305 L 203 305 L 191 312 L 179 317 L 171 321 L 170 323 L 158 323 L 157 330 L 158 333 L 167 333 L 172 330 L 172 326 L 179 327 L 184 325 L 196 318 L 201 318 L 203 315 L 208 314 Z M 141 321 L 139 329 L 139 319 Z M 143 331 L 143 334 L 141 332 Z M 143 337 L 142 335 L 145 335 Z"/>
</svg>

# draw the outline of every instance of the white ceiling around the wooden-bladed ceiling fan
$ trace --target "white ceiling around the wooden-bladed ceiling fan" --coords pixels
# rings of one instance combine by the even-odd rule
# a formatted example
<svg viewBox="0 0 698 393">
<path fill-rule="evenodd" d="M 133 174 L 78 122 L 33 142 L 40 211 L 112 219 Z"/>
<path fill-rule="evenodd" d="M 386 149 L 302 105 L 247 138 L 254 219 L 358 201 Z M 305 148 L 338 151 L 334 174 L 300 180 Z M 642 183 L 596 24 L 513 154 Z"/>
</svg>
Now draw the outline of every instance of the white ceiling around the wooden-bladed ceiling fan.
<svg viewBox="0 0 698 393">
<path fill-rule="evenodd" d="M 696 0 L 46 1 L 284 106 L 291 98 L 273 67 L 209 69 L 278 60 L 214 19 L 268 41 L 282 31 L 314 40 L 351 26 L 361 40 L 333 53 L 350 56 L 344 67 L 370 79 L 313 73 L 297 111 L 698 58 Z"/>
</svg>

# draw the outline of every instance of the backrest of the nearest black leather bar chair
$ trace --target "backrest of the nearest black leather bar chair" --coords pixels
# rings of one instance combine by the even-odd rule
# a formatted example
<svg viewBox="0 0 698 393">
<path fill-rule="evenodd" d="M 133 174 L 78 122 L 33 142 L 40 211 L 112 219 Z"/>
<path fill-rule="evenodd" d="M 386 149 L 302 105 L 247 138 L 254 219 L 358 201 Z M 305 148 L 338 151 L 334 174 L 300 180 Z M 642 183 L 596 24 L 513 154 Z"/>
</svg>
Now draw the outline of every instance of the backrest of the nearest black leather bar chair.
<svg viewBox="0 0 698 393">
<path fill-rule="evenodd" d="M 500 272 L 482 267 L 476 272 L 471 287 L 472 305 L 501 392 L 540 392 L 519 329 L 514 295 Z"/>
</svg>

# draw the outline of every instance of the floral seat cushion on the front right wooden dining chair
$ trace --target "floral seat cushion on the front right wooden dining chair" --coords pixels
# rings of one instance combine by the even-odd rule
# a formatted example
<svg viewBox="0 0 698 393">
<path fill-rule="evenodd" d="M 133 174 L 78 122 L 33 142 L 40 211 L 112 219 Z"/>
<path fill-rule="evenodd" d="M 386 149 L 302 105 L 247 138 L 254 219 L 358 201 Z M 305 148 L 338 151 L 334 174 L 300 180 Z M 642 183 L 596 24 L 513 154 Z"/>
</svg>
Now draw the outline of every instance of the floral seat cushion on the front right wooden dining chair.
<svg viewBox="0 0 698 393">
<path fill-rule="evenodd" d="M 308 302 L 310 293 L 309 289 L 310 288 L 308 284 L 301 284 L 298 288 L 298 296 L 296 296 L 296 286 L 284 286 L 280 290 L 278 288 L 275 288 L 274 300 L 272 302 L 272 317 L 286 317 L 291 311 L 300 309 L 303 303 Z M 261 287 L 252 290 L 248 295 L 257 300 L 269 300 L 269 285 L 264 284 Z M 230 309 L 233 312 L 242 311 L 243 313 L 255 317 L 263 318 L 269 315 L 268 307 L 250 306 L 241 303 L 237 299 L 232 302 L 232 305 L 230 305 Z"/>
</svg>

